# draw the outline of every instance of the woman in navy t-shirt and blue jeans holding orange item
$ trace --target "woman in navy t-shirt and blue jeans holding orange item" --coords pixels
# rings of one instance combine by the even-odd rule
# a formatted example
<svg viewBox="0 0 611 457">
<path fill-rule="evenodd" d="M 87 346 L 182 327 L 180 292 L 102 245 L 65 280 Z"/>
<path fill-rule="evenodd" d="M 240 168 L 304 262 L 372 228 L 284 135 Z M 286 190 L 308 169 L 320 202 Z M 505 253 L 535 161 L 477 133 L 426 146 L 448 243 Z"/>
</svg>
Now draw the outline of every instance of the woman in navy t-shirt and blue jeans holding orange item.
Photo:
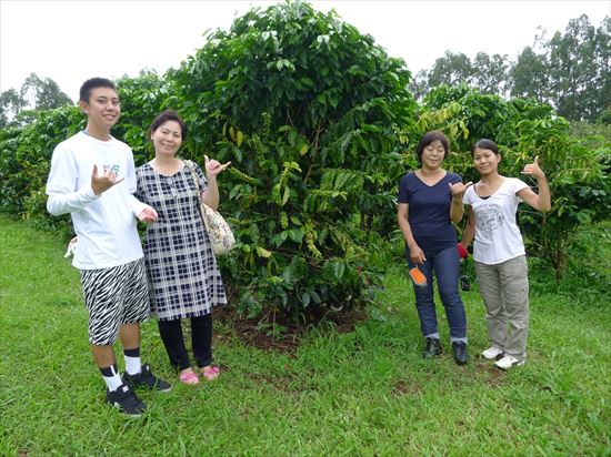
<svg viewBox="0 0 611 457">
<path fill-rule="evenodd" d="M 431 358 L 441 354 L 433 301 L 434 273 L 450 325 L 454 360 L 464 365 L 469 358 L 467 317 L 458 292 L 460 258 L 452 222 L 462 220 L 462 195 L 471 183 L 462 184 L 461 176 L 441 167 L 449 153 L 450 143 L 441 132 L 428 132 L 420 140 L 415 154 L 421 166 L 401 179 L 397 221 L 405 238 L 410 267 L 418 265 L 427 278 L 425 285 L 413 287 L 425 341 L 422 356 Z"/>
</svg>

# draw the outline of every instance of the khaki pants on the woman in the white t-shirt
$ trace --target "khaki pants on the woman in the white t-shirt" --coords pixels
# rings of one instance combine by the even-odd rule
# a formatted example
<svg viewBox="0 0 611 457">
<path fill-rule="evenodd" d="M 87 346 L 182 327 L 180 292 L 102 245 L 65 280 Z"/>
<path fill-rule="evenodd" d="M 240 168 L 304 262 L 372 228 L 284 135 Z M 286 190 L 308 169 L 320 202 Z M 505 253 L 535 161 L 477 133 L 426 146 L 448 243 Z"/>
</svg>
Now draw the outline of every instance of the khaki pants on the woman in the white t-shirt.
<svg viewBox="0 0 611 457">
<path fill-rule="evenodd" d="M 525 255 L 487 265 L 475 262 L 492 346 L 523 360 L 529 333 L 529 278 Z"/>
</svg>

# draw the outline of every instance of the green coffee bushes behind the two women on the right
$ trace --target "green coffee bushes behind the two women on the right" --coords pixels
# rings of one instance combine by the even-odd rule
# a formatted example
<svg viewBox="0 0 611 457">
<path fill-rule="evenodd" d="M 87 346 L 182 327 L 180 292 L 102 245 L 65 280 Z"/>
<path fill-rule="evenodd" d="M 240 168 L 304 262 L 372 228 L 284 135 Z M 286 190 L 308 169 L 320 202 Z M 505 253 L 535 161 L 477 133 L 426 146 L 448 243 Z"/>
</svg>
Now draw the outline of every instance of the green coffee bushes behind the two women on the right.
<svg viewBox="0 0 611 457">
<path fill-rule="evenodd" d="M 549 105 L 532 99 L 505 101 L 464 85 L 441 87 L 424 99 L 417 124 L 422 131 L 435 128 L 450 133 L 457 151 L 450 164 L 467 181 L 478 180 L 471 148 L 482 138 L 500 145 L 500 171 L 509 176 L 520 176 L 522 167 L 539 156 L 550 183 L 552 210 L 543 214 L 523 205 L 519 222 L 529 251 L 550 258 L 558 276 L 579 225 L 610 214 L 610 143 L 597 136 L 572 138 L 569 122 Z"/>
</svg>

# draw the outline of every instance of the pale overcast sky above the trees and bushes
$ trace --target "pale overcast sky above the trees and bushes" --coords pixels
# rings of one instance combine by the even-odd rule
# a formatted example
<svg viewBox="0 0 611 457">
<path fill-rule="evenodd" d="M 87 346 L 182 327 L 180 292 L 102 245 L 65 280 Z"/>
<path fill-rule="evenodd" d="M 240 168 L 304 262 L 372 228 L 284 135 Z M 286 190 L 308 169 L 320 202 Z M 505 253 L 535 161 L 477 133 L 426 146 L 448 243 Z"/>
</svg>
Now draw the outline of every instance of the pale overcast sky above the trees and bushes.
<svg viewBox="0 0 611 457">
<path fill-rule="evenodd" d="M 0 92 L 30 73 L 51 78 L 72 100 L 91 77 L 162 74 L 194 54 L 207 29 L 228 29 L 236 16 L 274 1 L 29 1 L 0 0 Z M 312 1 L 371 34 L 413 72 L 449 50 L 474 58 L 518 53 L 541 26 L 551 37 L 588 14 L 599 27 L 611 0 L 559 1 Z"/>
</svg>

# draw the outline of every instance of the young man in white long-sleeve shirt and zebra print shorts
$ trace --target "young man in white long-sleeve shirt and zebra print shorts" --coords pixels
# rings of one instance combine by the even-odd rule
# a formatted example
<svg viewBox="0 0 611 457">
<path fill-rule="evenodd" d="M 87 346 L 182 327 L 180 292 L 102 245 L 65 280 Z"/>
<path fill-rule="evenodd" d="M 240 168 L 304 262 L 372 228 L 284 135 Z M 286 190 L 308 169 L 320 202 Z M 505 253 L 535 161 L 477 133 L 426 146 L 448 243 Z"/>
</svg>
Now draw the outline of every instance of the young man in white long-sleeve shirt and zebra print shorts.
<svg viewBox="0 0 611 457">
<path fill-rule="evenodd" d="M 110 135 L 121 115 L 117 88 L 103 78 L 83 83 L 79 105 L 84 131 L 57 145 L 47 181 L 47 209 L 70 213 L 78 244 L 72 265 L 80 270 L 89 314 L 89 342 L 107 384 L 107 403 L 130 416 L 146 405 L 133 388 L 170 390 L 140 363 L 140 323 L 149 317 L 149 293 L 137 217 L 154 222 L 157 212 L 132 194 L 136 172 L 131 149 Z M 113 343 L 126 358 L 121 377 Z"/>
</svg>

